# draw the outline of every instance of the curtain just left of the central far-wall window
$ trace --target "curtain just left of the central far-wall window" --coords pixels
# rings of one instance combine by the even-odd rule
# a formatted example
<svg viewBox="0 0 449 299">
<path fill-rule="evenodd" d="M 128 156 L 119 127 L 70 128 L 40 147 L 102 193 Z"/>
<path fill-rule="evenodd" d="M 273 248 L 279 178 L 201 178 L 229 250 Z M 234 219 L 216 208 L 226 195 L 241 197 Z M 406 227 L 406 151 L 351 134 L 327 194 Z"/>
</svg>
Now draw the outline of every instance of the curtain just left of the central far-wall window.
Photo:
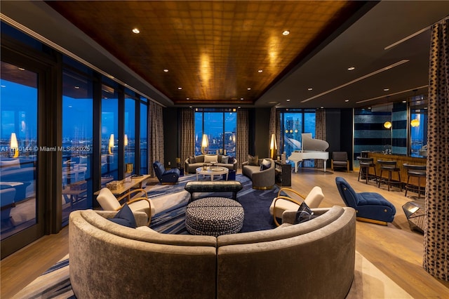
<svg viewBox="0 0 449 299">
<path fill-rule="evenodd" d="M 185 160 L 195 155 L 195 113 L 192 108 L 181 109 L 181 167 Z M 199 136 L 201 138 L 201 136 Z M 187 170 L 186 170 L 187 171 Z"/>
</svg>

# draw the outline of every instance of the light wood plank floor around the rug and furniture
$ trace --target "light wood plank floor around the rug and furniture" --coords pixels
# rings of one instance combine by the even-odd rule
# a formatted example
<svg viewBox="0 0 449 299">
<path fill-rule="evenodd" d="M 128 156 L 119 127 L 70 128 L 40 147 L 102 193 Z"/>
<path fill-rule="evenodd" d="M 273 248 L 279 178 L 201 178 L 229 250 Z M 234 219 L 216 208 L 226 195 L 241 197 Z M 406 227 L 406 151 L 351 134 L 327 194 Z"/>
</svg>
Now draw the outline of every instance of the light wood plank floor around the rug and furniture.
<svg viewBox="0 0 449 299">
<path fill-rule="evenodd" d="M 358 172 L 323 173 L 303 168 L 292 174 L 292 188 L 307 194 L 315 185 L 323 189 L 321 207 L 344 203 L 337 191 L 335 177 L 345 178 L 356 192 L 379 192 L 396 206 L 396 216 L 388 226 L 356 223 L 356 250 L 414 298 L 449 298 L 449 282 L 432 277 L 422 268 L 422 234 L 410 230 L 402 205 L 415 195 L 394 188 L 377 188 L 375 182 L 357 181 Z M 68 228 L 45 236 L 17 253 L 1 260 L 1 298 L 11 298 L 48 267 L 68 253 Z"/>
</svg>

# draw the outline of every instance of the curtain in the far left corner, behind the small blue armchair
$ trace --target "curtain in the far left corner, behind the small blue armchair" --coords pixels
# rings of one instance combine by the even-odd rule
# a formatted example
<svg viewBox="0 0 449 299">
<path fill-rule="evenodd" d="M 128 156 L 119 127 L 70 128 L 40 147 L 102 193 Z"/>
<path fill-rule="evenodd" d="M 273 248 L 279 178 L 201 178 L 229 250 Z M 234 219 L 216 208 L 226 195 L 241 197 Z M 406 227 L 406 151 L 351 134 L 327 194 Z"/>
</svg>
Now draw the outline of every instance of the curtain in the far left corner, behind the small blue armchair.
<svg viewBox="0 0 449 299">
<path fill-rule="evenodd" d="M 163 112 L 162 106 L 156 102 L 149 105 L 149 134 L 148 173 L 154 176 L 153 162 L 160 161 L 163 164 Z"/>
</svg>

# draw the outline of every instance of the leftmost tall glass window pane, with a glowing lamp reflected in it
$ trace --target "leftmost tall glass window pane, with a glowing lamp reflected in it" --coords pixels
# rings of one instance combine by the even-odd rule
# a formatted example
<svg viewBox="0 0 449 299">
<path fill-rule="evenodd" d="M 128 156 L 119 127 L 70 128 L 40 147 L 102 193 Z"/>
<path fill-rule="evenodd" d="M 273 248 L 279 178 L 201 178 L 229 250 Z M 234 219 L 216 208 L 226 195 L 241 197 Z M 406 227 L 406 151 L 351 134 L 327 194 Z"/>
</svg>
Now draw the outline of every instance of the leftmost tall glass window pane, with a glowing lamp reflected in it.
<svg viewBox="0 0 449 299">
<path fill-rule="evenodd" d="M 4 240 L 37 222 L 38 76 L 3 61 L 0 74 L 0 219 Z"/>
</svg>

